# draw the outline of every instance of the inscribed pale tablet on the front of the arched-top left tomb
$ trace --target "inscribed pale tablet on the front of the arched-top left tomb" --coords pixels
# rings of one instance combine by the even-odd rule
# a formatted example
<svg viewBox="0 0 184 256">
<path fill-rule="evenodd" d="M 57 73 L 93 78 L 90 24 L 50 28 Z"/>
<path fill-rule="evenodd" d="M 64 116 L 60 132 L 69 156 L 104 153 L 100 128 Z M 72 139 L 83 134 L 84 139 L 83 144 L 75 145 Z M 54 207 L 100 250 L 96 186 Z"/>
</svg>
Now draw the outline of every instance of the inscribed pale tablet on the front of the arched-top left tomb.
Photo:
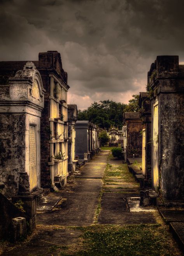
<svg viewBox="0 0 184 256">
<path fill-rule="evenodd" d="M 37 187 L 37 147 L 36 147 L 36 126 L 30 125 L 30 191 Z"/>
</svg>

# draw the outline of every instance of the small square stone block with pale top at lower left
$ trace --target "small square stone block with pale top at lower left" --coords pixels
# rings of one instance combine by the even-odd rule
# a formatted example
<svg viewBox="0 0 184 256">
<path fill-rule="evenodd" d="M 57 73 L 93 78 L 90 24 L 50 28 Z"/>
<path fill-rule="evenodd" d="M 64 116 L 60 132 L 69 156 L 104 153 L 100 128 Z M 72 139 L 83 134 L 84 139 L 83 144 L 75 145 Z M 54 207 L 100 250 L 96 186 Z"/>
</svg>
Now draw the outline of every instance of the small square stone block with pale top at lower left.
<svg viewBox="0 0 184 256">
<path fill-rule="evenodd" d="M 11 238 L 13 242 L 16 242 L 20 238 L 27 236 L 26 219 L 23 217 L 17 217 L 12 219 L 11 222 Z"/>
</svg>

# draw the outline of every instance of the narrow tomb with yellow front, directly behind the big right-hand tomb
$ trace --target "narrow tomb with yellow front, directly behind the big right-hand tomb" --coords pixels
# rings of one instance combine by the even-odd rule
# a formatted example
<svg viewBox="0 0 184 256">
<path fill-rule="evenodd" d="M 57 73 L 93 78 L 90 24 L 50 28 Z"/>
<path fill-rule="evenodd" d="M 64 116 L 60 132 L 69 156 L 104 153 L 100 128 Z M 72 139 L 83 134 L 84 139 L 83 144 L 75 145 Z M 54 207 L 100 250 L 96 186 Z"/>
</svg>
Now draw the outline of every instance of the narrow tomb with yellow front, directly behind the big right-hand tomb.
<svg viewBox="0 0 184 256">
<path fill-rule="evenodd" d="M 151 188 L 151 100 L 149 93 L 140 92 L 140 118 L 142 119 L 142 174 L 144 187 Z"/>
</svg>

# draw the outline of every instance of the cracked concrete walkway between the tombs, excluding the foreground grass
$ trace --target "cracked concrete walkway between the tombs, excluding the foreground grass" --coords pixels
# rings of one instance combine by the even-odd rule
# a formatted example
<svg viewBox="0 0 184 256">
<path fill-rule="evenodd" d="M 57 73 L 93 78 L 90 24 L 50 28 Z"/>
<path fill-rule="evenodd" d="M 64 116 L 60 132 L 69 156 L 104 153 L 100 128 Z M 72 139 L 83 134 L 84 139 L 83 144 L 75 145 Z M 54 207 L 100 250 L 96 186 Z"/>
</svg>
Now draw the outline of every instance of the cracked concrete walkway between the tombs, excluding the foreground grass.
<svg viewBox="0 0 184 256">
<path fill-rule="evenodd" d="M 154 212 L 130 212 L 127 198 L 140 195 L 139 185 L 127 164 L 109 157 L 109 153 L 100 151 L 82 166 L 80 174 L 70 176 L 67 186 L 55 193 L 61 196 L 58 206 L 37 214 L 38 226 L 32 238 L 2 255 L 61 255 L 58 250 L 81 242 L 82 231 L 74 226 L 156 223 Z M 51 252 L 53 247 L 56 251 Z"/>
</svg>

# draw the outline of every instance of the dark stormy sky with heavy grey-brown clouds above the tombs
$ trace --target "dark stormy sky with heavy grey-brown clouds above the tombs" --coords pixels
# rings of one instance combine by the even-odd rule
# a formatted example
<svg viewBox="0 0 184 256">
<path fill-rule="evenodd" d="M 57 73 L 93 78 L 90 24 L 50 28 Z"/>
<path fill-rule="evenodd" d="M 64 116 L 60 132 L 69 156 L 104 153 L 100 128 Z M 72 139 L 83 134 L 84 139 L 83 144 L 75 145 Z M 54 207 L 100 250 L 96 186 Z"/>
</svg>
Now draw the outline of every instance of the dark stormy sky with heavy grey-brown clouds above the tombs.
<svg viewBox="0 0 184 256">
<path fill-rule="evenodd" d="M 0 60 L 57 50 L 68 103 L 127 103 L 157 55 L 184 62 L 183 0 L 0 0 Z"/>
</svg>

